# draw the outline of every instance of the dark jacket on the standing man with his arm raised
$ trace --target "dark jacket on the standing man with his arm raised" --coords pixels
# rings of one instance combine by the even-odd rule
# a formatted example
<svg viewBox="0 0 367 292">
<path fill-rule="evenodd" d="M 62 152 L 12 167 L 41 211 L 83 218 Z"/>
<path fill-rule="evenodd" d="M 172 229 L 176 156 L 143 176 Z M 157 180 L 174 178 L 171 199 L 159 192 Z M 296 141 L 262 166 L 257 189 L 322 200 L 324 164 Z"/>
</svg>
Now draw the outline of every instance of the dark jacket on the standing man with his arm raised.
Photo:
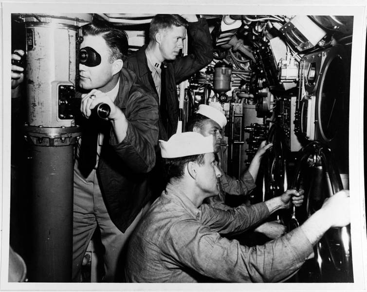
<svg viewBox="0 0 367 292">
<path fill-rule="evenodd" d="M 167 140 L 170 136 L 175 134 L 177 130 L 180 113 L 176 84 L 182 82 L 195 72 L 201 70 L 213 59 L 212 40 L 206 20 L 199 19 L 197 22 L 189 22 L 188 33 L 191 37 L 191 53 L 184 57 L 177 57 L 174 61 L 164 62 L 166 67 L 166 88 L 162 90 L 165 90 L 167 97 L 167 128 L 165 129 L 163 127 L 161 120 L 159 123 L 159 138 L 164 140 Z M 154 93 L 154 97 L 158 103 L 158 93 L 154 85 L 151 71 L 148 67 L 145 49 L 146 46 L 128 56 L 128 59 L 124 62 L 124 66 L 135 72 L 141 84 L 145 84 L 147 87 L 149 87 L 151 92 Z"/>
</svg>

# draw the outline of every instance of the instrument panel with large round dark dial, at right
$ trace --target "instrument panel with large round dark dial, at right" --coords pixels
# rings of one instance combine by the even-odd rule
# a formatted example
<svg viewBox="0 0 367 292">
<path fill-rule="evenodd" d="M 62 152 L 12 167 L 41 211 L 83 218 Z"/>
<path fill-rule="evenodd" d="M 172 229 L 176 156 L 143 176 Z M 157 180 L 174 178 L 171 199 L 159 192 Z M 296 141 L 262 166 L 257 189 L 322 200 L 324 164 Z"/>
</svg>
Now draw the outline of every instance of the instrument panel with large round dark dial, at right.
<svg viewBox="0 0 367 292">
<path fill-rule="evenodd" d="M 348 131 L 348 64 L 343 46 L 330 47 L 303 57 L 297 130 L 308 140 L 328 143 L 338 139 L 339 132 Z"/>
</svg>

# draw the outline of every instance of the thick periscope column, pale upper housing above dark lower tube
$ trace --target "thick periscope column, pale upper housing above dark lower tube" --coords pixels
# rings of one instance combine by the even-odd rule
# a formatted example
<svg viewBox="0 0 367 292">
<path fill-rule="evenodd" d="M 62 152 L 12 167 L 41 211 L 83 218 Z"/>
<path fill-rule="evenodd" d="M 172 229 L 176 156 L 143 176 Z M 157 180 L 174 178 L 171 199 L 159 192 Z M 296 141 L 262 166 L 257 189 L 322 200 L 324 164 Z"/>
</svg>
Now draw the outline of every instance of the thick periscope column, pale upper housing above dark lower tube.
<svg viewBox="0 0 367 292">
<path fill-rule="evenodd" d="M 32 233 L 30 282 L 71 282 L 78 30 L 88 14 L 22 15 L 26 28 L 27 124 Z"/>
</svg>

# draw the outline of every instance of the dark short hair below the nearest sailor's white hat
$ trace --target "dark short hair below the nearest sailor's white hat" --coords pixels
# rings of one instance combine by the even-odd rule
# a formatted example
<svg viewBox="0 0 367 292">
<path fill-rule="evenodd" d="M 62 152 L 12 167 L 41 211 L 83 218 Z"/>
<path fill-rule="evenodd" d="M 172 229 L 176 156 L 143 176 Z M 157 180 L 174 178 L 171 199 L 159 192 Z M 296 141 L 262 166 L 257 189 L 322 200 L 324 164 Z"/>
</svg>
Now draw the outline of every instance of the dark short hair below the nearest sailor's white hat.
<svg viewBox="0 0 367 292">
<path fill-rule="evenodd" d="M 180 179 L 184 175 L 184 169 L 190 161 L 196 161 L 199 165 L 205 163 L 205 154 L 190 155 L 177 158 L 162 158 L 166 182 L 171 179 Z"/>
</svg>

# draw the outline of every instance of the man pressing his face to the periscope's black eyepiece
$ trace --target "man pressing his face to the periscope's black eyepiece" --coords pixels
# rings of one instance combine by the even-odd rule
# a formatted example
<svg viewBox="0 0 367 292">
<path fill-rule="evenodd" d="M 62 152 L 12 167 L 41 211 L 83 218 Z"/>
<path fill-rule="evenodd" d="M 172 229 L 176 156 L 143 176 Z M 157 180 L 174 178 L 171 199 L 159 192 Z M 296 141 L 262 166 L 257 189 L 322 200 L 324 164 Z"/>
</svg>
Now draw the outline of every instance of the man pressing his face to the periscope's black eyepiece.
<svg viewBox="0 0 367 292">
<path fill-rule="evenodd" d="M 155 163 L 158 106 L 136 76 L 123 68 L 125 32 L 102 24 L 83 27 L 79 52 L 82 127 L 74 166 L 73 281 L 98 227 L 105 248 L 105 282 L 122 281 L 122 249 L 144 210 L 149 193 L 146 174 Z M 110 115 L 95 117 L 107 104 Z M 123 267 L 121 267 L 123 268 Z"/>
</svg>

